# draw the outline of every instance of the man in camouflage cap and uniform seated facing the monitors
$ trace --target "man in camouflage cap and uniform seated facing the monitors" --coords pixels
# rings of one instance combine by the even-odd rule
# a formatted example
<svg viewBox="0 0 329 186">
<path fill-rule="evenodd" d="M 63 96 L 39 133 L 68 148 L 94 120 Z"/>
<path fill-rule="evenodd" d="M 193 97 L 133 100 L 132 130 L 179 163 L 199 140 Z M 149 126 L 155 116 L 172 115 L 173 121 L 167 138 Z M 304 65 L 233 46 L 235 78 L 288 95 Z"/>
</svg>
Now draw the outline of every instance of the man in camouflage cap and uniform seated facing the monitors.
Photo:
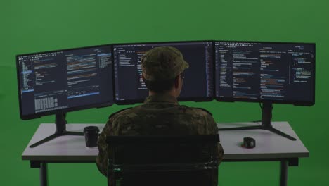
<svg viewBox="0 0 329 186">
<path fill-rule="evenodd" d="M 218 132 L 209 111 L 180 105 L 176 99 L 183 84 L 183 70 L 188 68 L 178 49 L 168 46 L 151 49 L 143 56 L 141 68 L 149 97 L 141 106 L 113 113 L 98 139 L 96 163 L 105 176 L 108 135 L 212 135 Z M 223 154 L 219 143 L 219 163 Z"/>
</svg>

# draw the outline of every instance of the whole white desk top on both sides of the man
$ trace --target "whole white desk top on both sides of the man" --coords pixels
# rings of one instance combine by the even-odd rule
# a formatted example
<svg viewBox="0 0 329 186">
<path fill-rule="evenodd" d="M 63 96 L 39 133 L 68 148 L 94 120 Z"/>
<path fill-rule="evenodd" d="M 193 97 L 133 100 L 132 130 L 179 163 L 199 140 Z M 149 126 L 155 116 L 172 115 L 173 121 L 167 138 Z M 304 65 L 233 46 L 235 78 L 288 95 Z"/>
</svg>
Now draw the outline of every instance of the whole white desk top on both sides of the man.
<svg viewBox="0 0 329 186">
<path fill-rule="evenodd" d="M 67 131 L 82 132 L 86 126 L 98 126 L 103 130 L 104 124 L 68 124 Z M 217 123 L 219 128 L 259 125 L 257 123 Z M 309 151 L 290 127 L 288 122 L 273 122 L 273 128 L 281 130 L 297 140 L 288 140 L 267 130 L 223 130 L 219 131 L 224 159 L 278 159 L 308 157 Z M 54 140 L 30 148 L 30 144 L 52 135 L 53 123 L 41 123 L 32 139 L 22 153 L 23 160 L 34 161 L 95 161 L 98 148 L 86 147 L 84 136 L 61 136 Z M 256 147 L 245 149 L 240 146 L 243 137 L 254 137 Z"/>
</svg>

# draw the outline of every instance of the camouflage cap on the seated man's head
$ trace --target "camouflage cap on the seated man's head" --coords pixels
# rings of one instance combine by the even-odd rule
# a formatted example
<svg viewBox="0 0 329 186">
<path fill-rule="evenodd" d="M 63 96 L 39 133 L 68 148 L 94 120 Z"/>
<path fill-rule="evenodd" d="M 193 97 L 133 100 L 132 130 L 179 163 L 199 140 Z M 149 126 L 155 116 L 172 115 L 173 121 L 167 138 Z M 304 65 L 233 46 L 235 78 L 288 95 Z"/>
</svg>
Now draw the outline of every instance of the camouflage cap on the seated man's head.
<svg viewBox="0 0 329 186">
<path fill-rule="evenodd" d="M 141 59 L 141 68 L 146 80 L 170 80 L 188 68 L 183 54 L 171 46 L 150 49 Z"/>
</svg>

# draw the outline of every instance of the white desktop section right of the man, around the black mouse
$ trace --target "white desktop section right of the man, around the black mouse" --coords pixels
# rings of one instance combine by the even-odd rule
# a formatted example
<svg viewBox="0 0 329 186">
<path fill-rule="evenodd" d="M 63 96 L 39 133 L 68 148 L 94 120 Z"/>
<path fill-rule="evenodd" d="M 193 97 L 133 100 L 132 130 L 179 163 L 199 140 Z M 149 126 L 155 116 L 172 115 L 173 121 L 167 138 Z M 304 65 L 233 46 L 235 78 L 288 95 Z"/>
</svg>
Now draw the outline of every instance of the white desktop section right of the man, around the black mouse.
<svg viewBox="0 0 329 186">
<path fill-rule="evenodd" d="M 218 123 L 218 128 L 233 128 L 260 125 L 260 123 Z M 219 137 L 224 149 L 224 159 L 283 159 L 309 157 L 309 151 L 290 127 L 288 122 L 273 122 L 273 128 L 295 137 L 292 141 L 268 130 L 221 130 Z M 243 137 L 253 137 L 256 147 L 241 147 Z"/>
</svg>

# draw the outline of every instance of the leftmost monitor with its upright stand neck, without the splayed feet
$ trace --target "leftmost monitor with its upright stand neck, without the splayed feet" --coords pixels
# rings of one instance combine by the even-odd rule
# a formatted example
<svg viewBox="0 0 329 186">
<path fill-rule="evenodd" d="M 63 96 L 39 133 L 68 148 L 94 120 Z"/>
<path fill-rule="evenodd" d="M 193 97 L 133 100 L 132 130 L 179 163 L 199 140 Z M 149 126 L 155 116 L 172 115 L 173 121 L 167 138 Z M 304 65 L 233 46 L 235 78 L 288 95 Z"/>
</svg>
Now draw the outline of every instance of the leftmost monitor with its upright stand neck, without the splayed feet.
<svg viewBox="0 0 329 186">
<path fill-rule="evenodd" d="M 67 135 L 65 113 L 114 102 L 111 45 L 22 54 L 16 60 L 23 120 L 56 114 L 56 133 Z"/>
</svg>

